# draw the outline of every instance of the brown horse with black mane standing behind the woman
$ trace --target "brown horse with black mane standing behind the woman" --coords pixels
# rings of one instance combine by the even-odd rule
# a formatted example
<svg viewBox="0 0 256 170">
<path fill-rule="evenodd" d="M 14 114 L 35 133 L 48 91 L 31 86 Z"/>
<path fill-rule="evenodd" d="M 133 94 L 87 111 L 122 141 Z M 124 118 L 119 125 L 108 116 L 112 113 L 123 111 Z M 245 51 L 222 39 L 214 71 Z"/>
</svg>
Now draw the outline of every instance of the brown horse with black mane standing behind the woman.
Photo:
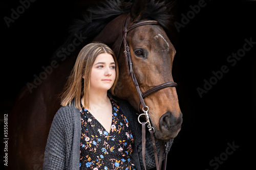
<svg viewBox="0 0 256 170">
<path fill-rule="evenodd" d="M 164 3 L 152 1 L 147 4 L 138 0 L 125 6 L 119 1 L 107 2 L 105 6 L 89 11 L 91 18 L 80 21 L 75 27 L 75 36 L 66 42 L 70 49 L 72 44 L 72 47 L 79 43 L 80 46 L 72 50 L 72 55 L 71 51 L 58 51 L 57 57 L 52 59 L 52 67 L 46 70 L 50 74 L 47 77 L 41 74 L 45 80 L 34 80 L 33 85 L 28 84 L 21 90 L 9 118 L 9 169 L 41 169 L 51 123 L 60 108 L 58 94 L 67 81 L 77 53 L 92 40 L 108 44 L 113 49 L 120 69 L 115 93 L 118 98 L 138 108 L 139 96 L 131 76 L 127 74 L 122 45 L 123 26 L 128 13 L 128 27 L 143 20 L 159 22 L 159 25 L 145 25 L 127 33 L 133 70 L 141 91 L 173 81 L 172 63 L 176 51 L 163 29 L 170 22 L 167 8 Z M 56 63 L 57 60 L 62 62 Z M 146 96 L 144 101 L 149 108 L 155 137 L 159 140 L 175 138 L 182 124 L 176 89 L 161 89 Z"/>
</svg>

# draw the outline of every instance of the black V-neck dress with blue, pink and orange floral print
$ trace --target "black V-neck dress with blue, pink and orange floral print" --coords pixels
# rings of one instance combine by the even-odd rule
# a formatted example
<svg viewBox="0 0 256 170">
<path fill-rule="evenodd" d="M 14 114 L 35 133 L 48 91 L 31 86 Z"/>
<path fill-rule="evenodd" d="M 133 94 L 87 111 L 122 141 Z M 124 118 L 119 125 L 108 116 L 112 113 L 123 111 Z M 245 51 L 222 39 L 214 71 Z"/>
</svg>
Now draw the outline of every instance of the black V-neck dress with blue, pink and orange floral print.
<svg viewBox="0 0 256 170">
<path fill-rule="evenodd" d="M 130 124 L 119 106 L 112 99 L 110 101 L 112 104 L 110 133 L 81 104 L 80 169 L 136 170 L 130 159 L 134 147 Z"/>
</svg>

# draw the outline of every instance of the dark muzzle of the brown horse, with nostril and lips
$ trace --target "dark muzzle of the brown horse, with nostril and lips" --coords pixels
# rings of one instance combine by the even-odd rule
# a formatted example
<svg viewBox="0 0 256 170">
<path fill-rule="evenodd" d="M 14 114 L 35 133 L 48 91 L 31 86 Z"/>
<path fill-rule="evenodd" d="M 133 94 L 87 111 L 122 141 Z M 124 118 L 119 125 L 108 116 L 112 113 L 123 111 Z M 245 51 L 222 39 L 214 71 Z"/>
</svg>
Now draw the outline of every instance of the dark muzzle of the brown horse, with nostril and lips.
<svg viewBox="0 0 256 170">
<path fill-rule="evenodd" d="M 159 130 L 155 137 L 159 140 L 170 140 L 175 138 L 181 130 L 182 113 L 178 117 L 171 112 L 164 113 L 159 119 Z"/>
</svg>

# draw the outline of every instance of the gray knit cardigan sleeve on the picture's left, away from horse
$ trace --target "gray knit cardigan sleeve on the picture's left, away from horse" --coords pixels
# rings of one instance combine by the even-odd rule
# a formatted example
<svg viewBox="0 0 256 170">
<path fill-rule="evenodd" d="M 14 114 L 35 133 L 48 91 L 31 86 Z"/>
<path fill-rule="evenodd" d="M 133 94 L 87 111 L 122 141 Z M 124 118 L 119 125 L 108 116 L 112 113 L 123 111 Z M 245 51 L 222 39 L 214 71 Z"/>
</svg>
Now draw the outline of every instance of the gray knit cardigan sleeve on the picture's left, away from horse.
<svg viewBox="0 0 256 170">
<path fill-rule="evenodd" d="M 72 114 L 61 107 L 54 116 L 48 135 L 43 169 L 68 169 L 72 148 Z"/>
</svg>

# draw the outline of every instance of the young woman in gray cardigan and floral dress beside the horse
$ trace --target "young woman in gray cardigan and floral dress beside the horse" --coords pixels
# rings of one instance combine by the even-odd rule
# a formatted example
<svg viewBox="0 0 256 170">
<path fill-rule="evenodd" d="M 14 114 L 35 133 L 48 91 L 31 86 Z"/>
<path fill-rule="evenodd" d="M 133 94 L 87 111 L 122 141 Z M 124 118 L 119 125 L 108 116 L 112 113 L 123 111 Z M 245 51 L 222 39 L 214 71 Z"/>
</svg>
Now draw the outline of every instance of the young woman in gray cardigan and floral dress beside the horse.
<svg viewBox="0 0 256 170">
<path fill-rule="evenodd" d="M 90 43 L 82 48 L 61 96 L 62 107 L 49 132 L 43 169 L 141 169 L 141 127 L 126 101 L 114 93 L 118 65 L 110 47 Z M 150 135 L 146 136 L 151 141 Z M 172 140 L 167 143 L 169 149 Z M 160 145 L 157 142 L 158 151 Z M 152 143 L 146 164 L 155 166 Z"/>
</svg>

